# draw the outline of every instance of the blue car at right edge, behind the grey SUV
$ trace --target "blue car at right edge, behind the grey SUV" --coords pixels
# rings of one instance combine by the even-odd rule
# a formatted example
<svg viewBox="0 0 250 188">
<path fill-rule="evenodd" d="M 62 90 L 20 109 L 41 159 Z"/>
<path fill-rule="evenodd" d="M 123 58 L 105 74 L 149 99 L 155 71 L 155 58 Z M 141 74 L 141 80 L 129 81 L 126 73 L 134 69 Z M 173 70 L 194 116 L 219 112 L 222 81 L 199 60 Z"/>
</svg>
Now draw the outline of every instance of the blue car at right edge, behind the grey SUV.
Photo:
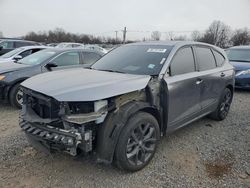
<svg viewBox="0 0 250 188">
<path fill-rule="evenodd" d="M 226 52 L 235 67 L 235 87 L 250 89 L 250 46 L 235 46 Z"/>
</svg>

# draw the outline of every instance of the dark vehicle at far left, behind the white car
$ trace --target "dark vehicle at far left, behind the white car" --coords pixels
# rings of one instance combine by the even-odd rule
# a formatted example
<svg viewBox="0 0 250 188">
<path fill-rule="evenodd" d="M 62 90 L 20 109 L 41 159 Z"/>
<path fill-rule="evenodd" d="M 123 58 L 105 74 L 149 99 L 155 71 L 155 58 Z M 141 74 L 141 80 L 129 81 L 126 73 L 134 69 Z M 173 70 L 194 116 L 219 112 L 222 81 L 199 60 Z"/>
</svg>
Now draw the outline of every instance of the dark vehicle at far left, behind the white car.
<svg viewBox="0 0 250 188">
<path fill-rule="evenodd" d="M 20 39 L 0 39 L 0 55 L 23 46 L 39 46 L 40 44 L 33 41 Z"/>
</svg>

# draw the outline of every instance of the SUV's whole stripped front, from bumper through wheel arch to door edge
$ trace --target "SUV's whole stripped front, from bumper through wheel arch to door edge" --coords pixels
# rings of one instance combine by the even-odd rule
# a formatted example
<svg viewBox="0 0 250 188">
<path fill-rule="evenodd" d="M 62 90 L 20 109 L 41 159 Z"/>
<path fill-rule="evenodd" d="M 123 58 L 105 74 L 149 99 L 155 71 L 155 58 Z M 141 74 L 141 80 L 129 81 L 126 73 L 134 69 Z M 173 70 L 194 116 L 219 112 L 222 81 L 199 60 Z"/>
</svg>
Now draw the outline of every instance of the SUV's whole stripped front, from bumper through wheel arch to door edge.
<svg viewBox="0 0 250 188">
<path fill-rule="evenodd" d="M 146 88 L 108 99 L 59 102 L 24 87 L 20 126 L 32 145 L 46 153 L 94 152 L 99 162 L 111 163 L 120 132 L 134 113 L 146 111 L 164 124 L 164 90 L 152 77 Z"/>
</svg>

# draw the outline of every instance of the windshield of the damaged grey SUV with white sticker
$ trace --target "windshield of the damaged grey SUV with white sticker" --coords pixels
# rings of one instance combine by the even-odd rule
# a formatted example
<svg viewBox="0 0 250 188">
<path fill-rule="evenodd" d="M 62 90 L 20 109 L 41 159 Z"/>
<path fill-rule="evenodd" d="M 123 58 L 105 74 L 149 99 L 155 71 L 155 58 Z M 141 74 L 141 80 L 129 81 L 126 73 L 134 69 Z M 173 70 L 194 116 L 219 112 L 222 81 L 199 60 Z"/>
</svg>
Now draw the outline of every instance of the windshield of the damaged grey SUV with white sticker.
<svg viewBox="0 0 250 188">
<path fill-rule="evenodd" d="M 172 46 L 125 45 L 111 51 L 91 68 L 128 74 L 158 75 Z"/>
</svg>

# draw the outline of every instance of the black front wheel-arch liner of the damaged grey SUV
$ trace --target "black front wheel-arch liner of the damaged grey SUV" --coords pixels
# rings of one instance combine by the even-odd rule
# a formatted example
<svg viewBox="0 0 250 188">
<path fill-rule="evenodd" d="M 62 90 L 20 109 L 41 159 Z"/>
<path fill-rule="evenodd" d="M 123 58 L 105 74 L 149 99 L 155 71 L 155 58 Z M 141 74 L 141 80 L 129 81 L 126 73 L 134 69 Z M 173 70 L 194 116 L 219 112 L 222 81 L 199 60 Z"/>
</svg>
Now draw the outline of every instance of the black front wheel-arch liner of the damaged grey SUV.
<svg viewBox="0 0 250 188">
<path fill-rule="evenodd" d="M 112 163 L 118 138 L 127 120 L 145 108 L 154 107 L 147 102 L 128 102 L 108 114 L 97 132 L 97 162 Z"/>
</svg>

